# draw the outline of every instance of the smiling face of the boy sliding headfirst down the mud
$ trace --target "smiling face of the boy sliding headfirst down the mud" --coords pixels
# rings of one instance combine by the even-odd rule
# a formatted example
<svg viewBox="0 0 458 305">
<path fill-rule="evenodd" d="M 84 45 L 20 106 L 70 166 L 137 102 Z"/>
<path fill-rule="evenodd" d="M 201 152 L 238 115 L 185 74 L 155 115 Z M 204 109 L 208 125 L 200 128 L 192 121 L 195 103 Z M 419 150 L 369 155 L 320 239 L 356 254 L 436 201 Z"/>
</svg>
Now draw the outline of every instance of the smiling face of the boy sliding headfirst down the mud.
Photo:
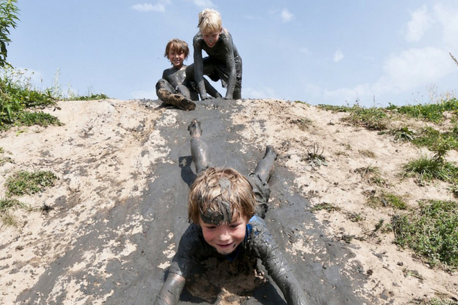
<svg viewBox="0 0 458 305">
<path fill-rule="evenodd" d="M 231 223 L 220 223 L 219 225 L 204 223 L 202 218 L 199 220 L 205 241 L 218 253 L 226 255 L 232 253 L 244 241 L 247 223 L 246 216 L 234 216 Z"/>
</svg>

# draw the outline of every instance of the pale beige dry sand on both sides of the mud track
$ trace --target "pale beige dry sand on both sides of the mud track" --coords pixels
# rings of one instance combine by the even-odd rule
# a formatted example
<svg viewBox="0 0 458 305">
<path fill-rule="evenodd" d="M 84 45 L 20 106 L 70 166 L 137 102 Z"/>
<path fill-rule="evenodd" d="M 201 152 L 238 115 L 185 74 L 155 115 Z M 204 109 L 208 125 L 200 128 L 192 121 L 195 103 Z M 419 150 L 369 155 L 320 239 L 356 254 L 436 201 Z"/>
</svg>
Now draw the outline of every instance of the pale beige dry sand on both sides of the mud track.
<svg viewBox="0 0 458 305">
<path fill-rule="evenodd" d="M 344 235 L 364 237 L 362 241 L 353 238 L 351 250 L 355 255 L 347 259 L 347 263 L 357 262 L 361 266 L 366 279 L 352 293 L 364 297 L 367 304 L 408 304 L 412 299 L 435 295 L 458 299 L 456 272 L 430 268 L 411 251 L 398 249 L 389 232 L 371 234 L 380 219 L 389 223 L 396 211 L 389 207 L 368 207 L 364 194 L 379 192 L 380 187 L 370 184 L 367 176 L 355 171 L 369 165 L 377 166 L 381 176 L 389 182 L 387 190 L 405 196 L 410 207 L 416 207 L 418 200 L 453 200 L 446 183 L 418 186 L 414 178 L 400 180 L 398 174 L 402 164 L 427 153 L 426 150 L 397 143 L 387 134 L 379 135 L 342 123 L 340 119 L 348 114 L 332 114 L 288 101 L 241 100 L 235 103 L 241 111 L 228 116 L 232 125 L 244 128 L 226 132 L 237 132 L 243 141 L 251 143 L 239 153 L 246 153 L 244 149 L 262 153 L 266 143 L 275 146 L 280 155 L 278 168 L 295 174 L 287 183 L 294 186 L 298 195 L 307 198 L 311 207 L 328 202 L 340 208 L 340 211 L 314 214 L 325 227 L 326 236 L 342 245 L 346 245 L 341 241 Z M 214 108 L 212 111 L 217 113 L 218 107 Z M 110 233 L 103 227 L 99 227 L 97 234 L 92 231 L 91 238 L 103 238 L 103 243 L 85 248 L 84 253 L 76 251 L 81 245 L 75 241 L 85 241 L 81 238 L 88 234 L 86 228 L 95 222 L 110 222 L 108 217 L 99 217 L 104 211 L 140 200 L 144 190 L 158 179 L 155 164 L 175 163 L 168 147 L 173 143 L 166 142 L 159 129 L 161 126 L 173 129 L 178 123 L 185 126 L 185 119 L 180 121 L 182 111 L 160 107 L 160 101 L 118 100 L 64 101 L 44 111 L 57 116 L 65 125 L 13 128 L 0 133 L 0 147 L 4 150 L 0 158 L 12 159 L 0 166 L 1 197 L 5 194 L 6 178 L 16 171 L 52 171 L 59 177 L 56 185 L 42 193 L 18 198 L 33 207 L 30 212 L 15 211 L 18 227 L 0 228 L 0 304 L 117 304 L 110 297 L 115 295 L 116 287 L 124 283 L 122 279 L 114 281 L 112 264 L 117 263 L 119 270 L 127 266 L 135 269 L 129 264 L 131 254 L 139 252 L 141 259 L 144 250 L 140 250 L 142 246 L 133 236 L 146 232 L 145 220 L 154 223 L 155 216 L 126 212 L 124 223 L 109 224 Z M 192 116 L 191 113 L 186 115 Z M 305 122 L 305 128 L 300 129 L 300 121 Z M 185 141 L 185 137 L 186 130 L 183 130 L 183 137 L 176 136 L 176 141 Z M 320 152 L 323 149 L 327 166 L 312 166 L 303 161 L 313 143 Z M 450 153 L 448 159 L 458 162 L 457 152 Z M 180 179 L 179 171 L 171 173 L 171 177 Z M 275 197 L 271 202 L 279 204 Z M 40 211 L 43 204 L 53 210 Z M 362 215 L 364 219 L 354 223 L 348 217 L 351 213 Z M 305 228 L 312 226 L 303 225 Z M 173 224 L 165 231 L 162 239 L 149 241 L 164 244 L 158 257 L 149 257 L 151 269 L 166 270 L 175 254 L 181 232 L 174 229 Z M 314 246 L 316 236 L 307 236 L 303 230 L 295 236 L 286 243 L 285 251 L 291 257 L 314 256 L 318 251 Z M 87 238 L 87 243 L 90 240 Z M 62 258 L 71 260 L 70 253 L 78 253 L 74 262 L 67 262 L 62 267 L 65 272 L 59 276 L 51 276 L 50 266 L 56 268 Z M 146 256 L 149 256 L 148 250 Z M 148 269 L 148 262 L 143 262 L 142 268 Z M 323 261 L 323 266 L 326 263 Z M 137 271 L 137 275 L 143 274 Z M 265 281 L 259 276 L 250 277 L 253 281 Z M 93 293 L 94 287 L 103 286 L 101 283 L 108 279 L 113 279 L 112 288 L 105 288 L 104 293 L 100 293 L 102 290 Z M 146 279 L 139 282 L 146 286 L 144 293 L 153 299 L 162 280 L 149 279 L 155 282 L 151 286 L 144 284 Z M 237 297 L 237 293 L 223 287 L 217 304 L 253 302 L 253 298 Z"/>
</svg>

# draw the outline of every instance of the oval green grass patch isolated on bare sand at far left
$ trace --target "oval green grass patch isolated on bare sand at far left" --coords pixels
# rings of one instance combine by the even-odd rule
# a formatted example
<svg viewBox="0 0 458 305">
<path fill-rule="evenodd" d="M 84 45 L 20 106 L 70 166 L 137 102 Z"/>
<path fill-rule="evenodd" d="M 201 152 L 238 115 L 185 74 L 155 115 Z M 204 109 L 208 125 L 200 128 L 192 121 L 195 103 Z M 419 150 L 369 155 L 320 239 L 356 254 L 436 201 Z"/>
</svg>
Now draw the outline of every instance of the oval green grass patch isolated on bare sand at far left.
<svg viewBox="0 0 458 305">
<path fill-rule="evenodd" d="M 38 193 L 46 186 L 53 186 L 57 179 L 58 177 L 50 171 L 36 171 L 34 173 L 19 171 L 6 180 L 6 196 L 9 198 L 12 195 L 20 196 Z"/>
</svg>

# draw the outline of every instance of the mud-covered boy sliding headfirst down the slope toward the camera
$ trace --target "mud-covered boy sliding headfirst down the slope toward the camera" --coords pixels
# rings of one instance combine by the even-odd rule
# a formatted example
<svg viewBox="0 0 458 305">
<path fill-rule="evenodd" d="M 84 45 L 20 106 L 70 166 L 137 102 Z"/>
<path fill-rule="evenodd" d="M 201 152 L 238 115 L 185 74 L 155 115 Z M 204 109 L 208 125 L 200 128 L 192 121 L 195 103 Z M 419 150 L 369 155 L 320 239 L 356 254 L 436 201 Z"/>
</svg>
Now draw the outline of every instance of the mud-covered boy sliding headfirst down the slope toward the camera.
<svg viewBox="0 0 458 305">
<path fill-rule="evenodd" d="M 154 304 L 177 304 L 185 279 L 201 261 L 212 256 L 234 261 L 246 255 L 262 261 L 287 304 L 307 304 L 305 293 L 262 219 L 270 196 L 267 182 L 277 158 L 273 147 L 267 146 L 255 172 L 245 177 L 232 168 L 210 167 L 200 122 L 194 119 L 188 130 L 198 173 L 188 196 L 191 225 L 180 240 Z"/>
</svg>

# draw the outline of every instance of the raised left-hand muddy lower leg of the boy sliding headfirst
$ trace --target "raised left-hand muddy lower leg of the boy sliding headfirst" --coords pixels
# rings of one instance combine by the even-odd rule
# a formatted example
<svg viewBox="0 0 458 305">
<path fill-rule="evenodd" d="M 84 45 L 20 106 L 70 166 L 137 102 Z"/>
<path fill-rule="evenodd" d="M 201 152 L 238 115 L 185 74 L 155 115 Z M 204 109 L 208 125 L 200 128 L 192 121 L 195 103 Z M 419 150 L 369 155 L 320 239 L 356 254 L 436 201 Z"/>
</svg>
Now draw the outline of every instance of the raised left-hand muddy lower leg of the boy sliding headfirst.
<svg viewBox="0 0 458 305">
<path fill-rule="evenodd" d="M 196 172 L 201 173 L 201 171 L 204 171 L 210 166 L 208 160 L 208 146 L 201 137 L 201 122 L 197 119 L 193 119 L 187 126 L 187 130 L 189 130 L 189 134 L 191 135 L 190 145 L 192 160 L 196 165 Z"/>
</svg>

